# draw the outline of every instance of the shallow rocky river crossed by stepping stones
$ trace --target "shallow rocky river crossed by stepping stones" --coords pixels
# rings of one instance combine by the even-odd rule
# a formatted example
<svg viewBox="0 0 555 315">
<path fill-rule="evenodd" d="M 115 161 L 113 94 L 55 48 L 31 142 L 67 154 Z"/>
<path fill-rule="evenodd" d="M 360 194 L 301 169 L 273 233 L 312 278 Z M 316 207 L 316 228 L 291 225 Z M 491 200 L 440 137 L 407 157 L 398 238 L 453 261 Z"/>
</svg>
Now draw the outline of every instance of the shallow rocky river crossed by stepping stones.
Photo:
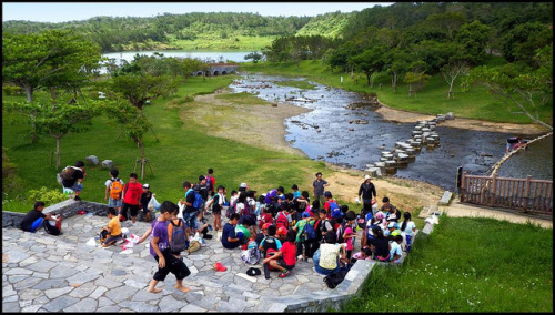
<svg viewBox="0 0 555 315">
<path fill-rule="evenodd" d="M 311 82 L 315 90 L 300 90 L 273 84 L 275 81 L 304 80 L 279 75 L 243 75 L 234 92 L 258 93 L 266 101 L 284 101 L 290 96 L 315 99 L 315 102 L 293 102 L 311 112 L 287 119 L 285 140 L 313 160 L 323 160 L 341 166 L 364 170 L 380 160 L 382 151 L 391 151 L 395 142 L 411 138 L 415 123 L 392 123 L 370 109 L 347 109 L 354 102 L 365 102 L 354 92 Z M 261 88 L 269 85 L 268 88 Z M 367 124 L 350 123 L 355 120 Z M 456 118 L 455 118 L 456 120 Z M 314 125 L 319 126 L 317 129 Z M 349 129 L 353 129 L 350 131 Z M 320 132 L 319 132 L 320 130 Z M 413 179 L 455 190 L 456 169 L 468 174 L 484 174 L 505 154 L 505 141 L 513 134 L 437 126 L 440 146 L 416 154 L 414 162 L 398 169 L 394 176 Z M 531 136 L 533 139 L 533 136 Z M 384 150 L 381 148 L 385 146 Z M 509 159 L 501 169 L 501 176 L 553 180 L 553 136 L 534 143 L 527 151 Z"/>
</svg>

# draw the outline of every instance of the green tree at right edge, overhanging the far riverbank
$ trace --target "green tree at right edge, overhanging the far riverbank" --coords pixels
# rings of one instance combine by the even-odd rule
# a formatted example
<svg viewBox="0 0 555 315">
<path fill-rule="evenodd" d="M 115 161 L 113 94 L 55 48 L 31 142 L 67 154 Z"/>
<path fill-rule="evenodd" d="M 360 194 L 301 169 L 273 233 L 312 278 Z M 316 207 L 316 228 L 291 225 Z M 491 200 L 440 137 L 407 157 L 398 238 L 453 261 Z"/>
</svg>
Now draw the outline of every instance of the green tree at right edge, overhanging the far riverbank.
<svg viewBox="0 0 555 315">
<path fill-rule="evenodd" d="M 463 88 L 484 85 L 507 104 L 507 111 L 512 112 L 511 105 L 516 105 L 521 111 L 513 113 L 525 114 L 533 122 L 553 130 L 538 114 L 541 106 L 547 105 L 549 100 L 553 102 L 553 44 L 537 50 L 535 55 L 542 64 L 537 70 L 517 69 L 513 63 L 477 67 L 463 79 Z"/>
</svg>

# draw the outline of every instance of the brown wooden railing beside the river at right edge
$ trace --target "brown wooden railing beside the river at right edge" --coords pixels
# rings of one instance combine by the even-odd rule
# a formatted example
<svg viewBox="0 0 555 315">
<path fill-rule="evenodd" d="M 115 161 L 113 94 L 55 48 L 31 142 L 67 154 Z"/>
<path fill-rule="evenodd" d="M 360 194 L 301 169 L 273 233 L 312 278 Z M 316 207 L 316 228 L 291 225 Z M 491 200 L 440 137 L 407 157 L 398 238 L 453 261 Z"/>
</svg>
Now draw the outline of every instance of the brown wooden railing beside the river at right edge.
<svg viewBox="0 0 555 315">
<path fill-rule="evenodd" d="M 553 214 L 553 181 L 468 175 L 461 179 L 461 202 Z"/>
</svg>

